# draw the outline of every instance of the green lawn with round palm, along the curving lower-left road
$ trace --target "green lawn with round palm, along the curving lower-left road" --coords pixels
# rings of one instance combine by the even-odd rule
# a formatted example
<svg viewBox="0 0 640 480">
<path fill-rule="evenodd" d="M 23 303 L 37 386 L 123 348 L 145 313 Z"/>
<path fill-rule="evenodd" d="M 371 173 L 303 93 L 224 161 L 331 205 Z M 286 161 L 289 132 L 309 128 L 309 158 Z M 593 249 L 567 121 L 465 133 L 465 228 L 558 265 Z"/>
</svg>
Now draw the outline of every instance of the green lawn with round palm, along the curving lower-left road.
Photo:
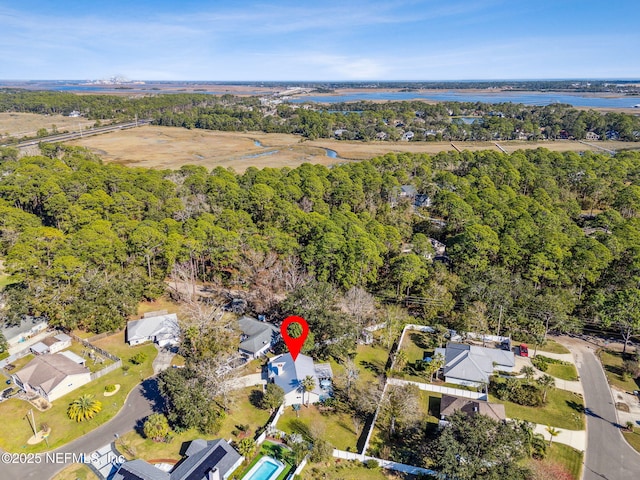
<svg viewBox="0 0 640 480">
<path fill-rule="evenodd" d="M 88 433 L 97 426 L 102 425 L 113 418 L 122 408 L 127 394 L 144 378 L 153 374 L 151 363 L 157 351 L 153 345 L 143 345 L 139 347 L 129 347 L 119 345 L 112 337 L 122 339 L 122 333 L 107 337 L 101 342 L 113 348 L 107 350 L 122 355 L 128 359 L 137 352 L 144 352 L 147 359 L 141 365 L 131 365 L 123 359 L 123 363 L 131 365 L 130 370 L 125 375 L 122 369 L 117 370 L 99 378 L 98 380 L 84 385 L 77 390 L 59 398 L 53 402 L 53 407 L 46 412 L 39 412 L 34 409 L 36 425 L 46 423 L 51 428 L 49 437 L 50 449 L 64 445 L 81 435 Z M 120 384 L 118 393 L 111 397 L 104 396 L 104 387 L 108 384 Z M 67 417 L 67 407 L 69 403 L 80 395 L 92 394 L 102 402 L 102 411 L 95 418 L 86 422 L 76 423 Z M 22 400 L 11 398 L 0 403 L 0 418 L 3 419 L 3 428 L 0 430 L 0 447 L 9 452 L 42 452 L 49 450 L 44 442 L 38 445 L 26 445 L 26 441 L 33 434 L 29 427 L 25 415 L 32 406 Z"/>
</svg>

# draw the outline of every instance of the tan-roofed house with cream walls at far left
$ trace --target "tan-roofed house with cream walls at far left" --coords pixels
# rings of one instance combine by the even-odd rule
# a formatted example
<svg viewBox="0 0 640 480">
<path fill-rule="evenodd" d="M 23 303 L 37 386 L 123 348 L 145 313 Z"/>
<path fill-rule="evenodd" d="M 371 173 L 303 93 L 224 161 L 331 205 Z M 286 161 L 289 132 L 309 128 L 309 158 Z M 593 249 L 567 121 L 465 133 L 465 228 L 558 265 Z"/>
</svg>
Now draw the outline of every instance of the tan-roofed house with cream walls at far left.
<svg viewBox="0 0 640 480">
<path fill-rule="evenodd" d="M 36 393 L 49 402 L 91 381 L 89 369 L 61 353 L 39 355 L 11 375 L 27 393 Z"/>
</svg>

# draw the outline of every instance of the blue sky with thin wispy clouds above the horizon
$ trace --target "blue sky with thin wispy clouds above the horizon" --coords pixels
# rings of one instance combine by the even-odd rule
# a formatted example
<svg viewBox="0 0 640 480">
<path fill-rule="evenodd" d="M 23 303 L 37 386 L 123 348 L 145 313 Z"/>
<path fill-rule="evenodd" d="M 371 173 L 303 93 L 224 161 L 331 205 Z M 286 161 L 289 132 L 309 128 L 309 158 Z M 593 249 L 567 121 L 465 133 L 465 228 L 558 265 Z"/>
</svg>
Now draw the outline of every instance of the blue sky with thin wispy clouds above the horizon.
<svg viewBox="0 0 640 480">
<path fill-rule="evenodd" d="M 0 79 L 640 78 L 640 1 L 0 0 Z"/>
</svg>

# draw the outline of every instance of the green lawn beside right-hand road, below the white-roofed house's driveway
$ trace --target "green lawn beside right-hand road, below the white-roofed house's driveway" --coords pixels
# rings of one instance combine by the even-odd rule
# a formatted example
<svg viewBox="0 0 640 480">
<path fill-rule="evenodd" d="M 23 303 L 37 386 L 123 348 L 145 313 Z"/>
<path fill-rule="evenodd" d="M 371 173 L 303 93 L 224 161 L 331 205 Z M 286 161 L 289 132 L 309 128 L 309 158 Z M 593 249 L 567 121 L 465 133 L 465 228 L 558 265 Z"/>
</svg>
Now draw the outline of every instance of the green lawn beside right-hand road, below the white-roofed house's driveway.
<svg viewBox="0 0 640 480">
<path fill-rule="evenodd" d="M 513 402 L 503 402 L 489 395 L 489 400 L 503 403 L 508 418 L 519 418 L 541 425 L 551 425 L 567 430 L 583 430 L 584 401 L 580 395 L 553 388 L 547 395 L 547 403 L 542 407 L 524 407 Z"/>
</svg>

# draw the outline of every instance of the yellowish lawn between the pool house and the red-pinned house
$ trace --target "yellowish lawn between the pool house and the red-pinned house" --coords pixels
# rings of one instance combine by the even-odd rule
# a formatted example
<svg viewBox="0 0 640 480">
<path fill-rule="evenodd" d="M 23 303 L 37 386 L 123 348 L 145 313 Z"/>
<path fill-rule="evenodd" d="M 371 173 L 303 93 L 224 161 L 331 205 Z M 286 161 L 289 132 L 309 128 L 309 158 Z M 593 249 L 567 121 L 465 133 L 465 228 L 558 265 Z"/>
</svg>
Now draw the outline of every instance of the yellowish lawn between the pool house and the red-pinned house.
<svg viewBox="0 0 640 480">
<path fill-rule="evenodd" d="M 162 443 L 142 437 L 138 432 L 131 431 L 120 438 L 127 447 L 134 452 L 129 455 L 131 458 L 142 458 L 144 460 L 167 459 L 178 461 L 181 458 L 180 448 L 184 442 L 190 442 L 196 438 L 205 440 L 213 440 L 216 438 L 224 438 L 226 440 L 233 439 L 232 431 L 238 430 L 236 425 L 249 425 L 249 435 L 254 436 L 256 429 L 264 426 L 269 420 L 270 413 L 267 410 L 261 410 L 254 407 L 249 401 L 251 392 L 255 387 L 245 388 L 234 392 L 233 406 L 225 417 L 220 431 L 214 435 L 203 435 L 196 429 L 192 428 L 182 433 L 174 433 L 171 442 Z M 122 453 L 127 453 L 125 449 L 119 447 Z"/>
</svg>

